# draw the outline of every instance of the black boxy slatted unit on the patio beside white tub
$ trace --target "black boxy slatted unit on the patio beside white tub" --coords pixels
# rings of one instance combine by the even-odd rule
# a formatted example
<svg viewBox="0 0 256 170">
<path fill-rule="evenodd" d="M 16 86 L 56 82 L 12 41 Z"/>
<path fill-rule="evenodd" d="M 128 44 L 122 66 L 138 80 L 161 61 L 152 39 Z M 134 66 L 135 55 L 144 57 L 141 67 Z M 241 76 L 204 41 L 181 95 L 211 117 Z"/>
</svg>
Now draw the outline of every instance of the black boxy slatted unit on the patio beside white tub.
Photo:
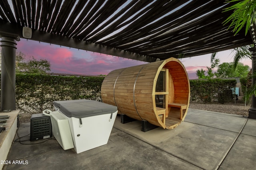
<svg viewBox="0 0 256 170">
<path fill-rule="evenodd" d="M 50 116 L 43 113 L 32 114 L 30 119 L 30 141 L 52 137 L 52 123 Z"/>
</svg>

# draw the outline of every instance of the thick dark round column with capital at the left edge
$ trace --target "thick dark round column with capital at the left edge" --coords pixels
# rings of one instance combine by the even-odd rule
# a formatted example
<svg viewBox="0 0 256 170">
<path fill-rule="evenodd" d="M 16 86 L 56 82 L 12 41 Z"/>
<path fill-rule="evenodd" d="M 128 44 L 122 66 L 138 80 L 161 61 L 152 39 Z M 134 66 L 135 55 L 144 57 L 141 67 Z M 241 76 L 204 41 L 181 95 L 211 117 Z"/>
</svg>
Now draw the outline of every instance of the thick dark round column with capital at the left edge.
<svg viewBox="0 0 256 170">
<path fill-rule="evenodd" d="M 2 38 L 2 58 L 1 58 L 1 109 L 16 110 L 16 40 L 19 41 L 20 37 L 17 34 L 10 34 L 0 31 Z"/>
</svg>

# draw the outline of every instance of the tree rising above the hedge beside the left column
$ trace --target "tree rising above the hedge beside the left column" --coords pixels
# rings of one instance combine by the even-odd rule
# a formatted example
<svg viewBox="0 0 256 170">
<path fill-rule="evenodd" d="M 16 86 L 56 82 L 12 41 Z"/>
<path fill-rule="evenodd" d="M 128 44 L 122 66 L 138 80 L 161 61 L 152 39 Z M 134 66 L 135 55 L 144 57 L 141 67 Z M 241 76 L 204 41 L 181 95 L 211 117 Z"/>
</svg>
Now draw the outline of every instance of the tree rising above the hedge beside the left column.
<svg viewBox="0 0 256 170">
<path fill-rule="evenodd" d="M 30 57 L 28 61 L 25 61 L 25 55 L 22 52 L 16 53 L 16 72 L 27 73 L 46 73 L 50 72 L 51 64 L 47 60 L 36 60 L 34 57 Z"/>
</svg>

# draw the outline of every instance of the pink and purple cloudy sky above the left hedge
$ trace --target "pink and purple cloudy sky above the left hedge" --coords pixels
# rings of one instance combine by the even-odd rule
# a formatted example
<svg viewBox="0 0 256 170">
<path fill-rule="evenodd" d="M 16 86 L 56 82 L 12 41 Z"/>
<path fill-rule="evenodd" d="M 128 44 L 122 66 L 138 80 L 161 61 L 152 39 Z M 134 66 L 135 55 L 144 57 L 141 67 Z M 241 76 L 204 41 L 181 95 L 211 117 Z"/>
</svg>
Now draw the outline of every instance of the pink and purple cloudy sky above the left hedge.
<svg viewBox="0 0 256 170">
<path fill-rule="evenodd" d="M 48 43 L 21 39 L 17 51 L 35 59 L 46 59 L 51 64 L 51 72 L 66 74 L 99 75 L 108 74 L 110 71 L 145 62 L 133 61 L 112 55 L 93 53 L 78 49 L 69 49 Z"/>
</svg>

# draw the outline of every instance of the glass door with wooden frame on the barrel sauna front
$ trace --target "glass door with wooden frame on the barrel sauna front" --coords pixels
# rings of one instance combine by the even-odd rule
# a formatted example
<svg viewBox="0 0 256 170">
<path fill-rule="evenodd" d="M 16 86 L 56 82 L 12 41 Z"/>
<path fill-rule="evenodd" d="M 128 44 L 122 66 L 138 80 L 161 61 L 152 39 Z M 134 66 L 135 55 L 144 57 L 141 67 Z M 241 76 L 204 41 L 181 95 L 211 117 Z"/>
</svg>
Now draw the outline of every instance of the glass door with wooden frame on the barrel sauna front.
<svg viewBox="0 0 256 170">
<path fill-rule="evenodd" d="M 157 110 L 161 110 L 161 112 L 164 113 L 164 117 L 166 117 L 168 111 L 168 79 L 168 69 L 163 68 L 160 71 L 156 82 L 155 100 Z M 163 112 L 160 108 L 165 109 L 165 111 Z"/>
</svg>

